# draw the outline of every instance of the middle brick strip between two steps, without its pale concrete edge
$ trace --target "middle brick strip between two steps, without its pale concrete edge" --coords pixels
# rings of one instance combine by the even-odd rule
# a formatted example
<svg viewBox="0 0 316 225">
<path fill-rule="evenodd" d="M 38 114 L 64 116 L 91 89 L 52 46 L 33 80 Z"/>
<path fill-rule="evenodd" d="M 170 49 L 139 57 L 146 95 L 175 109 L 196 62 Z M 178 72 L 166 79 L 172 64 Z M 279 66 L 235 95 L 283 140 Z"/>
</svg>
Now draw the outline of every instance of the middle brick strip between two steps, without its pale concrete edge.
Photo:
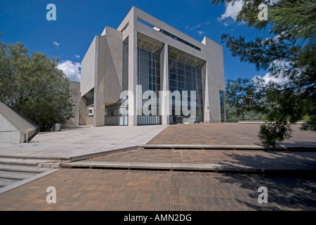
<svg viewBox="0 0 316 225">
<path fill-rule="evenodd" d="M 316 153 L 284 150 L 138 149 L 85 161 L 241 165 L 265 169 L 316 169 Z"/>
</svg>

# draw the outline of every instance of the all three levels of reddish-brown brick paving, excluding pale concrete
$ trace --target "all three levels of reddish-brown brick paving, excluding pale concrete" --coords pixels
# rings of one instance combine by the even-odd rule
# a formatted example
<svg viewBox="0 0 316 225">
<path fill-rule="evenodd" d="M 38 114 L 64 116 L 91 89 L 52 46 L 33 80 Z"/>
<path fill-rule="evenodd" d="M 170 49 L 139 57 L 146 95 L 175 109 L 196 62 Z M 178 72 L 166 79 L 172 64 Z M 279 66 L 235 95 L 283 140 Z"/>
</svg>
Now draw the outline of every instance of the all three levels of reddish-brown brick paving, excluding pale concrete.
<svg viewBox="0 0 316 225">
<path fill-rule="evenodd" d="M 171 125 L 148 143 L 253 145 L 259 124 Z M 315 133 L 293 127 L 288 146 L 314 146 Z M 88 148 L 88 146 L 87 146 Z M 138 149 L 90 159 L 105 162 L 174 162 L 292 166 L 315 169 L 315 153 L 277 150 Z M 57 203 L 46 202 L 47 187 Z M 266 186 L 269 203 L 257 201 Z M 164 172 L 121 169 L 59 169 L 0 194 L 0 210 L 316 210 L 316 176 Z"/>
</svg>

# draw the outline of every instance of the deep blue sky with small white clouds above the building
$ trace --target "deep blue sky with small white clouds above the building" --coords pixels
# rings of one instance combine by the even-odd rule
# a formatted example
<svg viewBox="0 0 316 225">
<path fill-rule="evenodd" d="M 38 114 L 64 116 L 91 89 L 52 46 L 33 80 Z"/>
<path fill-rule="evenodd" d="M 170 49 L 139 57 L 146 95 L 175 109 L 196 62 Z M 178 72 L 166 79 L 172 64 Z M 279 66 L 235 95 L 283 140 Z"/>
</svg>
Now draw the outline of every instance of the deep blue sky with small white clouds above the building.
<svg viewBox="0 0 316 225">
<path fill-rule="evenodd" d="M 60 58 L 60 68 L 79 79 L 80 63 L 95 35 L 105 26 L 117 28 L 133 6 L 202 41 L 204 36 L 221 44 L 221 34 L 246 39 L 267 36 L 234 19 L 237 6 L 211 4 L 212 0 L 0 0 L 0 41 L 22 41 L 32 51 Z M 47 4 L 56 5 L 56 21 L 46 18 Z M 264 76 L 253 65 L 233 58 L 224 46 L 225 79 Z"/>
</svg>

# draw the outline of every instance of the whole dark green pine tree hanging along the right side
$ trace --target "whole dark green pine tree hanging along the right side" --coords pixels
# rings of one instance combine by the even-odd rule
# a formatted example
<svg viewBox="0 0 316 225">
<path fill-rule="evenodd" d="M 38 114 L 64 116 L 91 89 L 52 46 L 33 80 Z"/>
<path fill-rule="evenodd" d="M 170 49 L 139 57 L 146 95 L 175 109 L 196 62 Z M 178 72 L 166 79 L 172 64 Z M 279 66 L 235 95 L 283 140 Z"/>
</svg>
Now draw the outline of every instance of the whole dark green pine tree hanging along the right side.
<svg viewBox="0 0 316 225">
<path fill-rule="evenodd" d="M 213 4 L 219 1 L 225 0 L 214 0 Z M 257 18 L 262 3 L 268 6 L 268 20 Z M 232 56 L 252 63 L 257 70 L 268 70 L 272 79 L 230 80 L 226 93 L 229 104 L 239 113 L 266 115 L 268 122 L 260 127 L 259 137 L 267 147 L 277 147 L 277 142 L 291 137 L 291 123 L 303 117 L 307 122 L 301 129 L 316 131 L 315 1 L 243 1 L 237 19 L 257 30 L 269 29 L 274 37 L 246 41 L 245 37 L 222 34 L 222 42 Z"/>
</svg>

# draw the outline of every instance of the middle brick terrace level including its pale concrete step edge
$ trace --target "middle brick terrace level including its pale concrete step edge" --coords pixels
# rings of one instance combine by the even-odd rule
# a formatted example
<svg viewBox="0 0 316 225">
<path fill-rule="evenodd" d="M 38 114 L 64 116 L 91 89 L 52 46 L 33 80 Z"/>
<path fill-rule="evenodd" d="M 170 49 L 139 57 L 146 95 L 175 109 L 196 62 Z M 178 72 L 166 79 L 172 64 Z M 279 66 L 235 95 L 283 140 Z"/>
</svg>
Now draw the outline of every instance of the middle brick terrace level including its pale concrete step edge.
<svg viewBox="0 0 316 225">
<path fill-rule="evenodd" d="M 200 172 L 313 172 L 316 153 L 284 150 L 170 150 L 138 149 L 89 160 L 69 162 L 66 168 L 162 169 Z"/>
</svg>

